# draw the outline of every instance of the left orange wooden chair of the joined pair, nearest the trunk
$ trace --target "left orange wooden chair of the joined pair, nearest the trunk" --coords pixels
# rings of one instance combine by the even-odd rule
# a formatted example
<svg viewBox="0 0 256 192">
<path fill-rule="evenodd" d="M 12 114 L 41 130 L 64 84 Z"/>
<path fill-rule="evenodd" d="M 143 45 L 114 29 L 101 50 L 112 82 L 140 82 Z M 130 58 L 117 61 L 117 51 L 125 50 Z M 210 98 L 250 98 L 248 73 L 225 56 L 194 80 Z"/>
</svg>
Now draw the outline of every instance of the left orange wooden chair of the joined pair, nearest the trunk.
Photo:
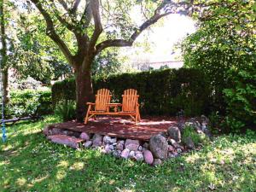
<svg viewBox="0 0 256 192">
<path fill-rule="evenodd" d="M 108 89 L 97 90 L 96 102 L 86 103 L 89 106 L 87 109 L 86 116 L 84 118 L 84 124 L 87 124 L 88 119 L 90 119 L 93 116 L 95 117 L 96 114 L 108 113 L 108 103 L 110 102 L 110 99 L 111 99 L 110 90 Z"/>
</svg>

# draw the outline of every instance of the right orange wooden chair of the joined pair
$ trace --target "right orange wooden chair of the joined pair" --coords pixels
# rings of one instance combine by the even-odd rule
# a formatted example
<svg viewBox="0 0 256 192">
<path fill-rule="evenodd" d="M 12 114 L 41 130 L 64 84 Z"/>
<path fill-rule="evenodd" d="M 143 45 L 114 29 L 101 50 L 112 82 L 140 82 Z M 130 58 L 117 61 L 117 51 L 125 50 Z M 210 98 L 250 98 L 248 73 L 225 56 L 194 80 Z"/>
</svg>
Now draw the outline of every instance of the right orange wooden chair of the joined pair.
<svg viewBox="0 0 256 192">
<path fill-rule="evenodd" d="M 120 115 L 129 115 L 137 125 L 137 122 L 141 120 L 141 115 L 139 111 L 137 90 L 128 89 L 124 91 L 123 102 L 121 104 L 122 111 L 119 112 Z"/>
</svg>

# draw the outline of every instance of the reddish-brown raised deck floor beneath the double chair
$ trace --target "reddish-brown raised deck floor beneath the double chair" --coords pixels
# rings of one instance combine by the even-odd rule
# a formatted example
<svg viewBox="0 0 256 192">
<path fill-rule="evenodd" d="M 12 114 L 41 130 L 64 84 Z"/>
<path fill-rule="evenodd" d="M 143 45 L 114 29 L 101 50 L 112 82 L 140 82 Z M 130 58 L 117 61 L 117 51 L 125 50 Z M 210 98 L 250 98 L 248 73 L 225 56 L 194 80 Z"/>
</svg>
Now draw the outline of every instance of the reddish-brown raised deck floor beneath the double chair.
<svg viewBox="0 0 256 192">
<path fill-rule="evenodd" d="M 176 124 L 177 120 L 173 117 L 143 117 L 142 121 L 135 125 L 128 118 L 104 116 L 97 117 L 96 120 L 90 119 L 87 125 L 69 121 L 51 127 L 147 141 L 150 137 L 163 131 L 166 132 L 169 126 Z"/>
</svg>

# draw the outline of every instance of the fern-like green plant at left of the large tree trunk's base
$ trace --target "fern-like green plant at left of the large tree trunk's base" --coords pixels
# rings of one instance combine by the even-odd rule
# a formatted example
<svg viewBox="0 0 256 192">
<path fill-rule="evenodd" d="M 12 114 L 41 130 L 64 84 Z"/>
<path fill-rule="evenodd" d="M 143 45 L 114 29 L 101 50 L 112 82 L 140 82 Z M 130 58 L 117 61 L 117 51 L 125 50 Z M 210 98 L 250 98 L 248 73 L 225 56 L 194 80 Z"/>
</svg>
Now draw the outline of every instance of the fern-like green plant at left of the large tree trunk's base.
<svg viewBox="0 0 256 192">
<path fill-rule="evenodd" d="M 58 102 L 55 107 L 55 114 L 59 116 L 63 122 L 75 119 L 75 102 L 72 100 Z"/>
</svg>

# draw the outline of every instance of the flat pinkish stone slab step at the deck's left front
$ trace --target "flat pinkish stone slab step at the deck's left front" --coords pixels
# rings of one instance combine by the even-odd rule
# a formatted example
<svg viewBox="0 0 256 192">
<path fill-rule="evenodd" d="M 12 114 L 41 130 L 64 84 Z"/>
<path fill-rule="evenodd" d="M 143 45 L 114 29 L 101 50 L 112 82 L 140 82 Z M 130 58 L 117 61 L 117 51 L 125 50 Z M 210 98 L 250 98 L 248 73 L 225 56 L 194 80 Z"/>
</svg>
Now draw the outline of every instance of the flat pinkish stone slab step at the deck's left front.
<svg viewBox="0 0 256 192">
<path fill-rule="evenodd" d="M 72 148 L 79 148 L 79 143 L 83 142 L 83 139 L 69 137 L 65 135 L 54 135 L 48 137 L 51 142 L 64 144 Z"/>
</svg>

